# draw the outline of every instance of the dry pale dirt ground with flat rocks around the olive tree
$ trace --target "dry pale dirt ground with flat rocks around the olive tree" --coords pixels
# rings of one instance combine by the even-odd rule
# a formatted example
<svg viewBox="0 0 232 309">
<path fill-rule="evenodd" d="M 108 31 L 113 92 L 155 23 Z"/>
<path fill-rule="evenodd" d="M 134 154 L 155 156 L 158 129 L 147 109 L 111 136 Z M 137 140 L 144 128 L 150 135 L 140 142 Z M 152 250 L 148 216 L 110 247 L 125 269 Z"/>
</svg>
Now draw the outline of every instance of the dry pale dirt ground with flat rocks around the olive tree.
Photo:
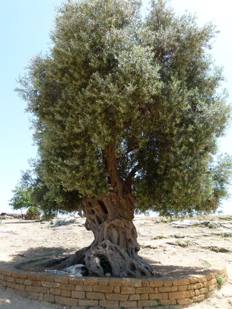
<svg viewBox="0 0 232 309">
<path fill-rule="evenodd" d="M 204 269 L 219 269 L 226 265 L 226 284 L 214 290 L 204 302 L 191 307 L 232 309 L 232 216 L 194 217 L 190 220 L 193 219 L 204 224 L 177 228 L 165 218 L 135 217 L 141 246 L 139 254 L 158 272 L 163 272 L 165 279 L 200 274 Z M 209 228 L 209 222 L 216 227 Z M 220 222 L 219 226 L 215 222 Z M 86 231 L 83 224 L 84 219 L 81 218 L 63 226 L 31 220 L 2 220 L 0 268 L 44 271 L 46 260 L 73 253 L 92 242 L 93 234 Z M 175 234 L 183 238 L 176 238 L 180 235 Z M 0 291 L 0 308 L 51 309 L 66 306 L 36 302 L 11 295 L 9 291 Z"/>
</svg>

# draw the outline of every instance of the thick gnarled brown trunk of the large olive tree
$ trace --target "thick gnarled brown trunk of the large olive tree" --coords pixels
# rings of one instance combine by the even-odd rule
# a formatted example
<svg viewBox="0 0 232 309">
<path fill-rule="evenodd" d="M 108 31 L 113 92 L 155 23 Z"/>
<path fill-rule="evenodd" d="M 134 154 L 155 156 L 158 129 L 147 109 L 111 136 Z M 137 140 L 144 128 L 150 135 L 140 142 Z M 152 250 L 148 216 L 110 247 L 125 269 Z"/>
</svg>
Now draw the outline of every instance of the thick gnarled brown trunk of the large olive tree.
<svg viewBox="0 0 232 309">
<path fill-rule="evenodd" d="M 64 269 L 81 263 L 87 266 L 90 276 L 104 277 L 105 273 L 111 273 L 114 277 L 158 275 L 137 253 L 140 245 L 132 221 L 135 206 L 129 183 L 133 173 L 126 181 L 120 179 L 115 147 L 110 146 L 106 151 L 112 191 L 101 199 L 86 197 L 83 201 L 85 227 L 93 232 L 94 241 L 87 248 L 63 259 L 56 268 Z"/>
</svg>

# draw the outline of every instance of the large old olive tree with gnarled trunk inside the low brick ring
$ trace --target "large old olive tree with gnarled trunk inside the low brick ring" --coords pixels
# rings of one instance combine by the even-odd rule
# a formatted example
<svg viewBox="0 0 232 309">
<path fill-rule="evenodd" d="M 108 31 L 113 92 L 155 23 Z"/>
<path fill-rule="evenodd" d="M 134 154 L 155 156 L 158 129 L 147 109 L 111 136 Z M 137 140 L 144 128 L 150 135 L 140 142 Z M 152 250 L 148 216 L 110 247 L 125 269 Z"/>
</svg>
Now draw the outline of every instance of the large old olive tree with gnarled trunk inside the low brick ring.
<svg viewBox="0 0 232 309">
<path fill-rule="evenodd" d="M 140 5 L 64 2 L 52 48 L 19 78 L 44 196 L 67 207 L 75 196 L 70 205 L 83 205 L 94 234 L 60 269 L 84 263 L 103 276 L 104 260 L 114 276 L 154 275 L 137 254 L 135 209 L 209 213 L 226 195 L 220 164 L 230 174 L 231 161 L 215 165 L 214 155 L 231 109 L 226 92 L 217 94 L 223 75 L 209 53 L 215 26 L 199 28 L 163 0 L 142 19 Z"/>
</svg>

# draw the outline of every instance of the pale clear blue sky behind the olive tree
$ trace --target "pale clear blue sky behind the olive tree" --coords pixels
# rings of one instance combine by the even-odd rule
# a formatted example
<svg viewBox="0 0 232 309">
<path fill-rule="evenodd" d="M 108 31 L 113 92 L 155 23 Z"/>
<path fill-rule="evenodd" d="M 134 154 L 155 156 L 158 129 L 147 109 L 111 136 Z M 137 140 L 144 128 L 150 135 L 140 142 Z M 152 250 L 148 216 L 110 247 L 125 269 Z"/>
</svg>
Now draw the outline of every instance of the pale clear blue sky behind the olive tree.
<svg viewBox="0 0 232 309">
<path fill-rule="evenodd" d="M 60 0 L 4 1 L 1 5 L 1 49 L 0 49 L 0 213 L 10 212 L 8 200 L 20 179 L 20 170 L 29 168 L 28 159 L 36 156 L 32 146 L 32 132 L 29 130 L 28 114 L 24 113 L 26 103 L 17 97 L 15 79 L 24 74 L 23 66 L 31 56 L 48 50 L 49 31 L 55 14 L 54 5 Z M 144 6 L 148 1 L 143 0 Z M 185 9 L 199 17 L 199 25 L 213 20 L 221 33 L 218 34 L 213 48 L 217 65 L 225 67 L 224 74 L 232 101 L 232 63 L 231 63 L 231 25 L 230 2 L 228 0 L 171 0 L 170 4 L 178 13 Z M 220 142 L 220 151 L 232 155 L 232 129 Z M 232 192 L 232 190 L 231 190 Z M 232 201 L 223 206 L 225 214 L 231 214 Z"/>
</svg>

